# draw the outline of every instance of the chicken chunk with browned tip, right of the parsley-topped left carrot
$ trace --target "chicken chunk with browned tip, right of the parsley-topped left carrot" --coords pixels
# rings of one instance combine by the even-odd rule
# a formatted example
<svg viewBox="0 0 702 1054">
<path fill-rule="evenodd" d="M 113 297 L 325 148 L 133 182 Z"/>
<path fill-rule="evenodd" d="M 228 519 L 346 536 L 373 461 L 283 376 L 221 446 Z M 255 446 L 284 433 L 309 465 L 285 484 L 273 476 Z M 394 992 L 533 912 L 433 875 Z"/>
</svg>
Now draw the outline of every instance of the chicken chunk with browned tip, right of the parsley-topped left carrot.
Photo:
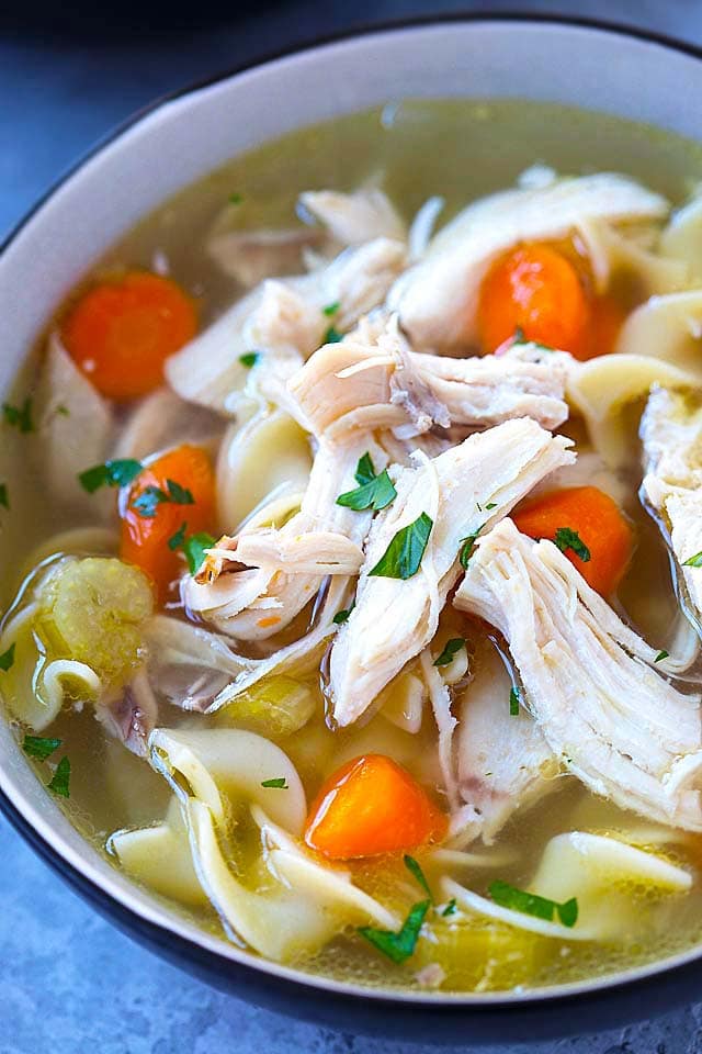
<svg viewBox="0 0 702 1054">
<path fill-rule="evenodd" d="M 222 551 L 230 565 L 217 550 L 205 565 L 214 573 L 186 576 L 186 606 L 229 637 L 265 640 L 315 597 L 325 575 L 355 573 L 373 513 L 338 505 L 337 498 L 358 485 L 354 472 L 364 453 L 377 472 L 385 468 L 383 450 L 367 436 L 347 444 L 321 441 L 299 512 L 279 529 L 245 527 L 237 539 L 226 539 Z M 310 553 L 310 538 L 318 543 L 316 553 Z"/>
</svg>

